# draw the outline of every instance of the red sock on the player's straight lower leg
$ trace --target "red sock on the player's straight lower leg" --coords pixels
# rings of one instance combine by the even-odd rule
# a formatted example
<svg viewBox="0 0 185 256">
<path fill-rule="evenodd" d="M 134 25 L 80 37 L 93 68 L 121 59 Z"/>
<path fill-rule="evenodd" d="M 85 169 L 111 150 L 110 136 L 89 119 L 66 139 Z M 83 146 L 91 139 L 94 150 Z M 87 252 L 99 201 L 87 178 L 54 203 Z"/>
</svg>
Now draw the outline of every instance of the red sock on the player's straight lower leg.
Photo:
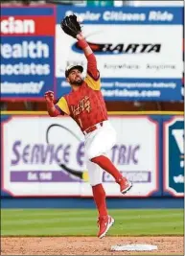
<svg viewBox="0 0 185 256">
<path fill-rule="evenodd" d="M 92 186 L 93 197 L 99 211 L 99 216 L 107 215 L 105 192 L 102 184 Z"/>
</svg>

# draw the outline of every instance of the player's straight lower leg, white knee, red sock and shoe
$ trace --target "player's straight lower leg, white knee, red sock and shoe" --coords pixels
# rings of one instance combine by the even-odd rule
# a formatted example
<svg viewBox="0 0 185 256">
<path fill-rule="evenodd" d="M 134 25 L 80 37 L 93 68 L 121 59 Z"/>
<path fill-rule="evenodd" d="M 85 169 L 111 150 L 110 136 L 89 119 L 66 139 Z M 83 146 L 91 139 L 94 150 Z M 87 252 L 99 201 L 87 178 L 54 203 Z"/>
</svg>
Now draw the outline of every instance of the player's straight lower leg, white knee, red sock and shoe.
<svg viewBox="0 0 185 256">
<path fill-rule="evenodd" d="M 103 170 L 97 164 L 89 161 L 88 159 L 86 160 L 86 167 L 89 174 L 89 182 L 92 186 L 93 198 L 99 212 L 98 237 L 103 238 L 110 226 L 114 223 L 114 219 L 107 213 L 106 196 L 102 184 Z"/>
</svg>

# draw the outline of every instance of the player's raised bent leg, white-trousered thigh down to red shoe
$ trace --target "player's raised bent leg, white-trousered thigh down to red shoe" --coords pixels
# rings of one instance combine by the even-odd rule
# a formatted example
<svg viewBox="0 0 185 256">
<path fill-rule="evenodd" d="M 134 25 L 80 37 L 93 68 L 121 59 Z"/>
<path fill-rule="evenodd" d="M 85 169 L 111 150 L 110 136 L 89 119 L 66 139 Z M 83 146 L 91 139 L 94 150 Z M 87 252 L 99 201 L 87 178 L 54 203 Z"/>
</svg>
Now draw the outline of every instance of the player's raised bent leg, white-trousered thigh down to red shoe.
<svg viewBox="0 0 185 256">
<path fill-rule="evenodd" d="M 111 160 L 104 155 L 104 153 L 111 150 L 115 142 L 115 130 L 109 125 L 104 126 L 104 128 L 97 130 L 92 139 L 87 141 L 87 157 L 91 162 L 99 165 L 104 171 L 112 175 L 120 185 L 121 193 L 125 194 L 131 188 L 131 183 L 119 172 Z"/>
</svg>

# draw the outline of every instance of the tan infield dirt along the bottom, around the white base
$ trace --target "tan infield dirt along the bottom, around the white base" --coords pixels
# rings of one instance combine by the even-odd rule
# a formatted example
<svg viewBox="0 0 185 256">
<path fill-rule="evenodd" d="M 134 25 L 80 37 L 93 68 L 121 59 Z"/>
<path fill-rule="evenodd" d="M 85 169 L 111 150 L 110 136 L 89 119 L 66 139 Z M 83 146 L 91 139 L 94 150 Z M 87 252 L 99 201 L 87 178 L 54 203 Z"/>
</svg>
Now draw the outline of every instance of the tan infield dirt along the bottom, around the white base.
<svg viewBox="0 0 185 256">
<path fill-rule="evenodd" d="M 113 252 L 115 244 L 154 244 L 152 255 L 184 255 L 183 237 L 40 237 L 1 238 L 1 255 L 134 255 L 134 252 Z M 145 252 L 147 255 L 150 252 Z M 139 252 L 137 252 L 139 254 Z M 140 252 L 142 255 L 143 253 Z"/>
</svg>

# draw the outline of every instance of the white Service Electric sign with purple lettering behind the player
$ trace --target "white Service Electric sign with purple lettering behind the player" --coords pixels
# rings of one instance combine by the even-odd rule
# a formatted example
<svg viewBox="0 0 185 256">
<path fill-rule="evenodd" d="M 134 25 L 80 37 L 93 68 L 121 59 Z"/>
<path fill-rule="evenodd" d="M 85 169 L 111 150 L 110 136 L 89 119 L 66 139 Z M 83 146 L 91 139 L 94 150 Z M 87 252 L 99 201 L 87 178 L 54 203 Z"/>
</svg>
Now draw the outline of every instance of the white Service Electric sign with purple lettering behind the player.
<svg viewBox="0 0 185 256">
<path fill-rule="evenodd" d="M 140 116 L 111 116 L 117 143 L 109 153 L 133 182 L 126 197 L 158 190 L 157 124 Z M 2 190 L 14 197 L 91 197 L 83 134 L 69 117 L 12 116 L 2 123 Z M 114 178 L 103 175 L 107 196 L 122 197 Z"/>
</svg>

